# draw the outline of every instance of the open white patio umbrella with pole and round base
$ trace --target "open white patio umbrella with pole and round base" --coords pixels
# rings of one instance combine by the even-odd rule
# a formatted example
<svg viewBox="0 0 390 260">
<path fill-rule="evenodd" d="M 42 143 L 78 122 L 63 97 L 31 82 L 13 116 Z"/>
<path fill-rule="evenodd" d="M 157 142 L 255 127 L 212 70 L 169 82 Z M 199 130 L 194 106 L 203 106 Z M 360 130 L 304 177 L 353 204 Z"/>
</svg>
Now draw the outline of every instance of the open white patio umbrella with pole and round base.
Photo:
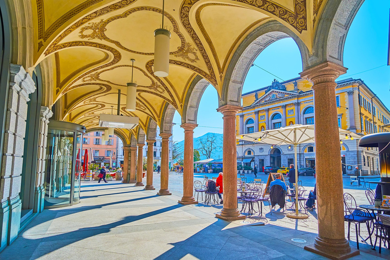
<svg viewBox="0 0 390 260">
<path fill-rule="evenodd" d="M 359 139 L 360 136 L 347 131 L 345 129 L 339 128 L 340 142 L 346 139 Z M 294 155 L 295 155 L 295 178 L 298 181 L 298 165 L 297 165 L 297 146 L 304 143 L 314 143 L 314 125 L 313 124 L 294 124 L 286 127 L 281 127 L 278 129 L 266 130 L 262 132 L 256 132 L 252 134 L 245 134 L 237 136 L 238 140 L 251 141 L 255 143 L 263 143 L 270 145 L 294 145 Z M 307 218 L 306 214 L 298 212 L 298 185 L 295 185 L 296 188 L 296 203 L 295 203 L 295 213 L 288 213 L 287 217 L 291 218 Z"/>
</svg>

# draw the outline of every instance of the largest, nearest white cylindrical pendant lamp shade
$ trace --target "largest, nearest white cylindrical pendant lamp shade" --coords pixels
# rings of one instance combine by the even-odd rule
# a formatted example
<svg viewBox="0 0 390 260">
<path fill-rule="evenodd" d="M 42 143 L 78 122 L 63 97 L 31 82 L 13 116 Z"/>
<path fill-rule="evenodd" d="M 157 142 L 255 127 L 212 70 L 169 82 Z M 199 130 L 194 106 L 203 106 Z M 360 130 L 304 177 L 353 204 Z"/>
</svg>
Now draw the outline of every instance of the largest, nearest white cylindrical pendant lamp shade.
<svg viewBox="0 0 390 260">
<path fill-rule="evenodd" d="M 167 77 L 169 74 L 169 40 L 171 32 L 166 29 L 154 31 L 154 75 Z"/>
</svg>

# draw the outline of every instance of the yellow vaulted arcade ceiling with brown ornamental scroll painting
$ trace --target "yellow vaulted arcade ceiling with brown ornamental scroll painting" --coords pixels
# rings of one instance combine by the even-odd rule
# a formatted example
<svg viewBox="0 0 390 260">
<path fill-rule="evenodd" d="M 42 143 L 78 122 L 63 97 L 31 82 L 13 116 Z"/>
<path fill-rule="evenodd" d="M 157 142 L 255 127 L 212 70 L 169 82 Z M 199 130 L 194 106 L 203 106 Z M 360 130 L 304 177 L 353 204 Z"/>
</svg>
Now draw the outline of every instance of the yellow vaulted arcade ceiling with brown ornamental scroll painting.
<svg viewBox="0 0 390 260">
<path fill-rule="evenodd" d="M 326 0 L 166 0 L 171 31 L 170 72 L 153 75 L 154 35 L 161 26 L 162 0 L 32 0 L 35 64 L 50 59 L 52 104 L 62 119 L 97 126 L 99 114 L 138 116 L 161 123 L 164 107 L 183 113 L 192 80 L 200 75 L 221 94 L 226 68 L 236 48 L 254 28 L 277 20 L 311 49 L 316 17 Z M 134 80 L 137 110 L 125 110 L 126 83 Z M 134 129 L 131 133 L 136 134 Z M 123 135 L 129 136 L 127 130 Z"/>
</svg>

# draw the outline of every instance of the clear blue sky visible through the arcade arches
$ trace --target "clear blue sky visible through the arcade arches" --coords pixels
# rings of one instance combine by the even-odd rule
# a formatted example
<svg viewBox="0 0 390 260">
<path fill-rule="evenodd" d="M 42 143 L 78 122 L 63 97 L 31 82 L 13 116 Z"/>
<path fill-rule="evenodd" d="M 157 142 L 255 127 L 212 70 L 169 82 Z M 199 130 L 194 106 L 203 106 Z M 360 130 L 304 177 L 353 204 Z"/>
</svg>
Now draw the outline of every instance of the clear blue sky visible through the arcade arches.
<svg viewBox="0 0 390 260">
<path fill-rule="evenodd" d="M 378 2 L 381 2 L 381 8 L 378 8 Z M 348 71 L 339 77 L 362 79 L 387 108 L 390 108 L 390 66 L 386 66 L 389 9 L 388 0 L 365 1 L 362 5 L 345 42 L 344 67 L 348 68 Z M 301 55 L 293 39 L 282 39 L 273 43 L 254 63 L 283 80 L 299 77 L 302 72 Z M 377 67 L 380 68 L 374 69 Z M 243 93 L 268 86 L 274 78 L 257 67 L 251 67 L 245 79 Z M 209 85 L 202 96 L 198 111 L 199 126 L 194 129 L 194 137 L 208 132 L 223 133 L 222 114 L 216 111 L 217 108 L 217 91 Z M 173 140 L 181 141 L 184 139 L 184 131 L 180 127 L 181 117 L 178 112 L 175 113 L 173 122 L 178 124 L 173 127 Z"/>
</svg>

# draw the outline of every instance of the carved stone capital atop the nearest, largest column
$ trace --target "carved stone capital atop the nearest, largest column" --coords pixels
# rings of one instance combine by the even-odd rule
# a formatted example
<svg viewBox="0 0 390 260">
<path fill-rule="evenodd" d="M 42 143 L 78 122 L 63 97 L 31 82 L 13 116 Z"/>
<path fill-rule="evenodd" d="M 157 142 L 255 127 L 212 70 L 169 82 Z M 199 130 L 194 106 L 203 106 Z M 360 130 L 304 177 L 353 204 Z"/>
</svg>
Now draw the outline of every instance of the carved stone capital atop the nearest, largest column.
<svg viewBox="0 0 390 260">
<path fill-rule="evenodd" d="M 334 83 L 340 75 L 346 72 L 347 68 L 327 61 L 301 72 L 300 75 L 315 85 L 324 82 Z"/>
</svg>

